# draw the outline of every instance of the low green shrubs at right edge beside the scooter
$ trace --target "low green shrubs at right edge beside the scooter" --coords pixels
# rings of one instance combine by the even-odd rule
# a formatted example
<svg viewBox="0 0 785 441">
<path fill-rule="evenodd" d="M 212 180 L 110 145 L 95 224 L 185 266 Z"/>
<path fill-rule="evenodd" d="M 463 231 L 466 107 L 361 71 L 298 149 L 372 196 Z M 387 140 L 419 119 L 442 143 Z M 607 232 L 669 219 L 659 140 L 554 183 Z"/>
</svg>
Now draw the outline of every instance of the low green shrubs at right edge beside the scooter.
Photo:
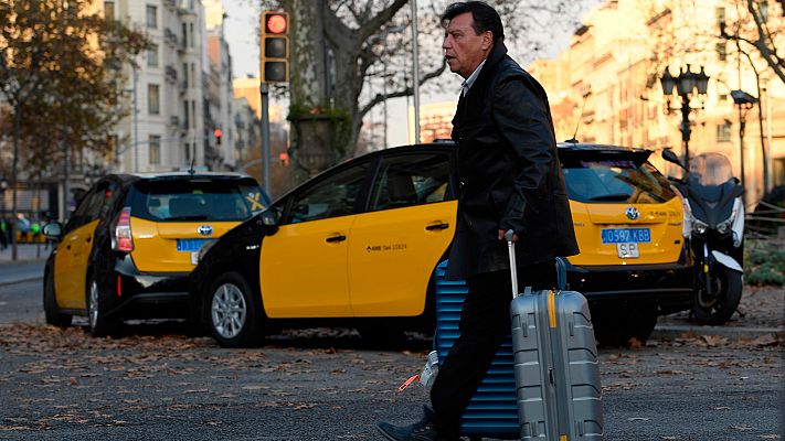
<svg viewBox="0 0 785 441">
<path fill-rule="evenodd" d="M 774 240 L 747 240 L 744 245 L 744 281 L 747 284 L 785 284 L 785 248 Z"/>
</svg>

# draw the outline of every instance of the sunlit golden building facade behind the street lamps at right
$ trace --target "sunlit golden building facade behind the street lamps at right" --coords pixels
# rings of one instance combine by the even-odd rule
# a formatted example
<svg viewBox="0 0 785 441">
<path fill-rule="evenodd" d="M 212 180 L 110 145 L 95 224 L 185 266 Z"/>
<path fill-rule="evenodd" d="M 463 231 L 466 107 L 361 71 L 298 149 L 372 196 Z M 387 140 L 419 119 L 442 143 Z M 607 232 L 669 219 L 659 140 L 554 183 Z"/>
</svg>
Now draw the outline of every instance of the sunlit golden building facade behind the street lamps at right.
<svg viewBox="0 0 785 441">
<path fill-rule="evenodd" d="M 692 73 L 703 68 L 708 90 L 690 100 L 689 154 L 722 153 L 740 179 L 743 168 L 747 209 L 754 208 L 765 189 L 785 184 L 785 83 L 752 47 L 720 37 L 721 25 L 744 20 L 746 2 L 738 3 L 618 0 L 596 8 L 569 50 L 528 67 L 549 94 L 558 139 L 651 149 L 658 166 L 680 175 L 660 159 L 662 149 L 685 153 L 680 101 L 664 95 L 660 78 L 666 67 L 673 76 L 688 65 Z M 785 31 L 781 8 L 766 3 L 771 29 Z M 782 37 L 774 44 L 785 47 Z M 760 106 L 740 111 L 732 90 L 760 98 Z"/>
</svg>

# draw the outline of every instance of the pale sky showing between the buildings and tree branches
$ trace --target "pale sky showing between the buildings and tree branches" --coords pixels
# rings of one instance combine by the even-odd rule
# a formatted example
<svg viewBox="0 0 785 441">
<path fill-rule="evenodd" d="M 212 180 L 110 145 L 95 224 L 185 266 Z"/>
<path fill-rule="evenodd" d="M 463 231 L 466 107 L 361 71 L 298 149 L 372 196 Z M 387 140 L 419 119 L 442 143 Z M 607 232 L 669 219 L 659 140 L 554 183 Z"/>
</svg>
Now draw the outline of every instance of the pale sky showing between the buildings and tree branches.
<svg viewBox="0 0 785 441">
<path fill-rule="evenodd" d="M 427 1 L 427 0 L 426 0 Z M 232 54 L 232 71 L 235 78 L 242 78 L 247 75 L 256 76 L 258 74 L 259 49 L 257 36 L 257 21 L 259 14 L 259 6 L 253 0 L 222 0 L 226 11 L 226 21 L 224 22 L 224 34 L 230 45 Z M 582 0 L 583 3 L 598 3 L 598 0 Z M 559 28 L 562 23 L 554 23 Z M 572 31 L 564 29 L 563 32 L 556 32 L 556 39 L 549 42 L 550 50 L 545 56 L 555 56 L 560 51 L 566 49 L 570 42 Z M 421 43 L 422 44 L 422 43 Z M 441 42 L 439 42 L 441 44 Z M 522 60 L 520 54 L 516 54 L 513 49 L 510 49 L 511 55 L 516 60 Z M 445 80 L 455 82 L 455 87 L 447 88 L 449 90 L 458 90 L 462 78 L 454 74 L 447 74 Z M 457 94 L 457 93 L 456 93 Z M 453 94 L 428 94 L 427 88 L 421 89 L 421 105 L 441 101 L 455 101 L 457 95 Z M 402 121 L 405 125 L 409 119 L 406 106 L 412 103 L 405 98 L 391 99 L 388 101 L 388 143 L 392 146 L 401 146 L 407 143 L 407 127 L 397 127 Z M 376 119 L 382 118 L 382 106 L 374 108 Z"/>
</svg>

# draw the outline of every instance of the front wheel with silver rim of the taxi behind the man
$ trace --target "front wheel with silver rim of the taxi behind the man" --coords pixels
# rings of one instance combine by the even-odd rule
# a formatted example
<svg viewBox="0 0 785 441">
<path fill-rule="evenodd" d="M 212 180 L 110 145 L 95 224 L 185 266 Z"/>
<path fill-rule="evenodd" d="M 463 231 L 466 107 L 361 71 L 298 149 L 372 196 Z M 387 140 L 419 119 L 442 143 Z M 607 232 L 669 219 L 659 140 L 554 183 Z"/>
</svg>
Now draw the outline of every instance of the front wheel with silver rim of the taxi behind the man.
<svg viewBox="0 0 785 441">
<path fill-rule="evenodd" d="M 236 272 L 225 273 L 213 283 L 206 312 L 210 332 L 221 346 L 255 346 L 264 337 L 258 301 Z"/>
</svg>

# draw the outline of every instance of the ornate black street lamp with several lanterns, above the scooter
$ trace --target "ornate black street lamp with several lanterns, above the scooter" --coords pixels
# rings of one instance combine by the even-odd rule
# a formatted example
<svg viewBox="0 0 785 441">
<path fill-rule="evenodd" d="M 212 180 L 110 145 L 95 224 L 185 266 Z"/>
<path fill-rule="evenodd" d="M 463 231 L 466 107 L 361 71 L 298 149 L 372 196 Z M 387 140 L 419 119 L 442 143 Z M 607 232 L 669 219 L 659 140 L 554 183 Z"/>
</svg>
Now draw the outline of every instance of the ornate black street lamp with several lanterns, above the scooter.
<svg viewBox="0 0 785 441">
<path fill-rule="evenodd" d="M 662 77 L 659 78 L 662 85 L 662 94 L 665 94 L 666 99 L 666 114 L 670 115 L 672 111 L 681 110 L 681 123 L 679 123 L 679 130 L 681 131 L 681 141 L 683 142 L 685 150 L 685 165 L 687 170 L 690 168 L 690 133 L 692 129 L 690 128 L 690 112 L 692 110 L 703 109 L 703 97 L 707 95 L 707 89 L 709 87 L 709 75 L 703 71 L 701 66 L 699 73 L 690 71 L 690 65 L 687 65 L 687 71 L 679 68 L 679 76 L 673 76 L 670 74 L 670 68 L 666 67 Z M 670 107 L 670 100 L 673 96 L 673 88 L 676 88 L 676 95 L 681 99 L 681 107 Z M 690 99 L 698 96 L 701 100 L 701 106 L 692 107 L 690 106 Z"/>
</svg>

